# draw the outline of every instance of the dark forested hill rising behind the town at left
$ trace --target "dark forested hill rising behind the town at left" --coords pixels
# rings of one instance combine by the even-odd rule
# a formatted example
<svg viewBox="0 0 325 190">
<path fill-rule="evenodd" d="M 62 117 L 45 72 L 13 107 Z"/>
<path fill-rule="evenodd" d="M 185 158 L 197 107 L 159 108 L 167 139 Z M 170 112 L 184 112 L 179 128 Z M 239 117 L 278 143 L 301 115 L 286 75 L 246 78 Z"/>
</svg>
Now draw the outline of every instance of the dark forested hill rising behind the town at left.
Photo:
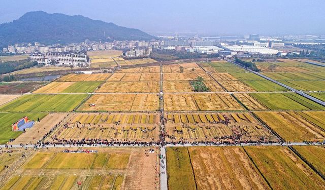
<svg viewBox="0 0 325 190">
<path fill-rule="evenodd" d="M 29 12 L 18 20 L 0 24 L 0 47 L 15 43 L 77 43 L 84 40 L 151 40 L 154 37 L 133 28 L 117 26 L 76 15 Z"/>
</svg>

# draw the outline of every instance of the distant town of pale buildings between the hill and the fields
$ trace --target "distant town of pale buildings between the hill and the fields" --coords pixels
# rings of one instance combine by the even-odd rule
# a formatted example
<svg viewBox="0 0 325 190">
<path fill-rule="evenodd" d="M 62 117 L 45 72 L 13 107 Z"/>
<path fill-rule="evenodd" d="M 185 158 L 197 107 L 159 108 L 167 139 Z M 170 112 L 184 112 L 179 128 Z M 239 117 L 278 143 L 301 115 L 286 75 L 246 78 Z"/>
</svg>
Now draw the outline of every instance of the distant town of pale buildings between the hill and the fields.
<svg viewBox="0 0 325 190">
<path fill-rule="evenodd" d="M 153 50 L 198 54 L 217 54 L 217 57 L 299 56 L 304 46 L 325 44 L 325 36 L 289 35 L 260 36 L 158 36 L 154 41 L 85 41 L 75 44 L 44 45 L 38 42 L 14 44 L 3 48 L 2 55 L 27 54 L 30 61 L 43 65 L 89 66 L 87 51 L 122 50 L 125 59 L 150 57 Z M 308 51 L 308 50 L 307 50 Z"/>
</svg>

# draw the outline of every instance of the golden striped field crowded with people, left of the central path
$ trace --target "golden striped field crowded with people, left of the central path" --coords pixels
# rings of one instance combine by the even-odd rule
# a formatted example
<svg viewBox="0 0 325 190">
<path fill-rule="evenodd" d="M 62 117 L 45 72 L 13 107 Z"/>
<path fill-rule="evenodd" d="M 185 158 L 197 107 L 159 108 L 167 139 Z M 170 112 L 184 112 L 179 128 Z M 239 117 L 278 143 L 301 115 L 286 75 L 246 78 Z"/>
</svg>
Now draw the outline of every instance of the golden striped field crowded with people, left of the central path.
<svg viewBox="0 0 325 190">
<path fill-rule="evenodd" d="M 132 113 L 75 113 L 45 141 L 101 139 L 111 141 L 158 141 L 159 116 Z M 91 142 L 89 142 L 91 143 Z"/>
</svg>

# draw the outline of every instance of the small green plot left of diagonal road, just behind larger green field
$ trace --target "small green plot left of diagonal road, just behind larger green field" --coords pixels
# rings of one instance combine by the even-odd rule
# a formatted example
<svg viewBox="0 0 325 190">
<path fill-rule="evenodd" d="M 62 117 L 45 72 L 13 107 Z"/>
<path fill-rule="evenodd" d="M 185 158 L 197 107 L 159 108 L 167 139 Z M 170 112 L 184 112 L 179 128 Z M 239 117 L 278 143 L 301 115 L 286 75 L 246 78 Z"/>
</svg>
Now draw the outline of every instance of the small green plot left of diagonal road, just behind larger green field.
<svg viewBox="0 0 325 190">
<path fill-rule="evenodd" d="M 288 89 L 275 84 L 271 81 L 242 81 L 247 86 L 253 88 L 257 92 L 285 92 L 289 91 Z"/>
</svg>

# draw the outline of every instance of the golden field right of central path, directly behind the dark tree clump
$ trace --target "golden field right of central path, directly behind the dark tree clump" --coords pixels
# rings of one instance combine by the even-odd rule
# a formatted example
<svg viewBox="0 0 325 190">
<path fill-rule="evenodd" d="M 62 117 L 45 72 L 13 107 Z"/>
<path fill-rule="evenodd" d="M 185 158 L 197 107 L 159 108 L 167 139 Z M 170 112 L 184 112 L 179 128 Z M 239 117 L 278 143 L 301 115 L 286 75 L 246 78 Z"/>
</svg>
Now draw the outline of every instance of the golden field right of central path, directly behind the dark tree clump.
<svg viewBox="0 0 325 190">
<path fill-rule="evenodd" d="M 164 73 L 164 81 L 193 81 L 198 77 L 202 77 L 205 81 L 212 81 L 212 78 L 207 73 Z"/>
</svg>

